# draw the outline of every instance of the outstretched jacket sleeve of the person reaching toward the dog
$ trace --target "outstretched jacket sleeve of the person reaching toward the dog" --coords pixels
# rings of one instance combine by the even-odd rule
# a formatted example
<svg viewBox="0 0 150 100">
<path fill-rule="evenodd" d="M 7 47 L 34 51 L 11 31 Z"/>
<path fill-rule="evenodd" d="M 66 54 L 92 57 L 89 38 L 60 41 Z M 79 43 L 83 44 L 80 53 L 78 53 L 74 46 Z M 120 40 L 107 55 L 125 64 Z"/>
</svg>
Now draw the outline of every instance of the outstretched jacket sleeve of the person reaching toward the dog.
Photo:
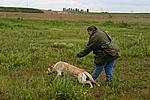
<svg viewBox="0 0 150 100">
<path fill-rule="evenodd" d="M 77 54 L 78 58 L 84 57 L 87 54 L 89 54 L 94 48 L 96 47 L 96 38 L 95 37 L 91 37 L 91 39 L 89 40 L 87 46 L 84 48 L 84 50 L 82 50 L 80 53 Z"/>
</svg>

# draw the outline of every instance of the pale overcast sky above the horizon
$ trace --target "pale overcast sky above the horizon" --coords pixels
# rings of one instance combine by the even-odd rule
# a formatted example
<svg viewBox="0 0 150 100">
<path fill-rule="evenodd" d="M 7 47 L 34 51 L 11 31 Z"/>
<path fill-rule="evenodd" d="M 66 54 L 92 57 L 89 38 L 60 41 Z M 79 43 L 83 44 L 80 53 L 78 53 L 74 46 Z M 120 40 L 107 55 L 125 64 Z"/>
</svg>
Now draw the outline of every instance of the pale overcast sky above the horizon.
<svg viewBox="0 0 150 100">
<path fill-rule="evenodd" d="M 0 0 L 0 6 L 60 10 L 79 8 L 96 12 L 150 13 L 150 0 Z"/>
</svg>

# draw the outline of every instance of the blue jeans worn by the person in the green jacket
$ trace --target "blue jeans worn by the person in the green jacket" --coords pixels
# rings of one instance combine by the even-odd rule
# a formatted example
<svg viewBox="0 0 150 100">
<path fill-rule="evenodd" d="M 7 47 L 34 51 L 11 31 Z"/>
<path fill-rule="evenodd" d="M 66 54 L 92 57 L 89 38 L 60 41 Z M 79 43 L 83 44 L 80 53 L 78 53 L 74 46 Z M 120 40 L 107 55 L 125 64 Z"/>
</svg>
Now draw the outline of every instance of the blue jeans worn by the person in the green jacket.
<svg viewBox="0 0 150 100">
<path fill-rule="evenodd" d="M 115 60 L 112 60 L 106 64 L 96 64 L 96 67 L 92 74 L 93 79 L 96 80 L 104 68 L 106 73 L 106 80 L 112 81 L 112 71 L 113 71 L 114 64 L 115 64 Z"/>
</svg>

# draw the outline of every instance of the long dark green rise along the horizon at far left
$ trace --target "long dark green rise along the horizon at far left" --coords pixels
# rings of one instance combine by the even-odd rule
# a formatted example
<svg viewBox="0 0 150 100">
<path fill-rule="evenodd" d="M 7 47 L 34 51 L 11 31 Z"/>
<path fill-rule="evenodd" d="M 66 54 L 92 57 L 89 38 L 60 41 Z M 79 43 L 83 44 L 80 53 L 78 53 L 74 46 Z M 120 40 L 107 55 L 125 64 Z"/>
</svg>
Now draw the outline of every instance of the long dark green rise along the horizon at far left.
<svg viewBox="0 0 150 100">
<path fill-rule="evenodd" d="M 43 13 L 43 11 L 39 9 L 19 7 L 0 7 L 0 12 Z"/>
</svg>

